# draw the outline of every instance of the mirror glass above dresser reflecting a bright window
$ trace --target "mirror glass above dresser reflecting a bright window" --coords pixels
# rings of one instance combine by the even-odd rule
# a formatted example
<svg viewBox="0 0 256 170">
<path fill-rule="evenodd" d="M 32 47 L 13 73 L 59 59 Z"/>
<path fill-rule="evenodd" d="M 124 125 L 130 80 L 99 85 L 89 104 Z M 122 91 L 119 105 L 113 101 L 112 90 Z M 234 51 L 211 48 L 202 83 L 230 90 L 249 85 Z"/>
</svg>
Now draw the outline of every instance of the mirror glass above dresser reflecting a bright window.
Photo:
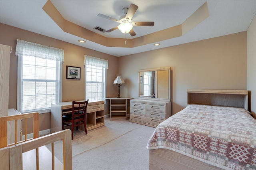
<svg viewBox="0 0 256 170">
<path fill-rule="evenodd" d="M 156 71 L 140 72 L 140 97 L 155 97 Z"/>
</svg>

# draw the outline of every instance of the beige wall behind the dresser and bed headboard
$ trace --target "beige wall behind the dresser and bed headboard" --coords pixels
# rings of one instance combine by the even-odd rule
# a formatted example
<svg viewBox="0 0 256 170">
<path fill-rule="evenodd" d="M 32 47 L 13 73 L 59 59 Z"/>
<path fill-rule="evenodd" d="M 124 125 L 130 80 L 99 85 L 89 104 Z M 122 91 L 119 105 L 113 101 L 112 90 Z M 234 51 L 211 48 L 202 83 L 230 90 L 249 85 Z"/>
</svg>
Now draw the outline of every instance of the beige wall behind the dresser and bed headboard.
<svg viewBox="0 0 256 170">
<path fill-rule="evenodd" d="M 154 49 L 154 46 L 152 46 Z M 246 32 L 119 57 L 122 96 L 137 97 L 137 71 L 172 67 L 172 114 L 187 89 L 246 89 Z"/>
</svg>

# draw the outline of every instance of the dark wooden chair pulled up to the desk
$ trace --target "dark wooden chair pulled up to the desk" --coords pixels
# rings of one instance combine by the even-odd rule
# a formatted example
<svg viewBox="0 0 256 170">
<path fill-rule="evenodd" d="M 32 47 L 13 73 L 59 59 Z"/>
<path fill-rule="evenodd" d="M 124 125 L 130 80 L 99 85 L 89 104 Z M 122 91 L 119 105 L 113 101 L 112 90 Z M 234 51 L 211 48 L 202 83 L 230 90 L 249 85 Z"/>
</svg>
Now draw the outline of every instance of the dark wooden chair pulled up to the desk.
<svg viewBox="0 0 256 170">
<path fill-rule="evenodd" d="M 86 129 L 86 108 L 88 105 L 88 101 L 73 101 L 72 102 L 72 114 L 63 115 L 62 116 L 62 130 L 64 130 L 65 125 L 71 127 L 72 132 L 72 140 L 73 140 L 73 132 L 74 127 L 78 130 L 78 126 L 84 125 L 85 134 L 87 134 Z"/>
</svg>

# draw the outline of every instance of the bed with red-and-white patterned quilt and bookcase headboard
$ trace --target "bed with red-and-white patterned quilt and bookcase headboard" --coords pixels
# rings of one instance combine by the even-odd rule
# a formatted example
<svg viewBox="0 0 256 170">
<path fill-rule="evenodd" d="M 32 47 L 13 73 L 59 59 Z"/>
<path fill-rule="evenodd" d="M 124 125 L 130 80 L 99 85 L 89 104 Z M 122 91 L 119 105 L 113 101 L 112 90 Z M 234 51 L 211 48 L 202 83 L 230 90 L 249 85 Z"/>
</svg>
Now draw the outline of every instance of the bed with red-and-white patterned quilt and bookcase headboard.
<svg viewBox="0 0 256 170">
<path fill-rule="evenodd" d="M 187 90 L 188 106 L 154 130 L 150 170 L 256 169 L 248 91 Z"/>
</svg>

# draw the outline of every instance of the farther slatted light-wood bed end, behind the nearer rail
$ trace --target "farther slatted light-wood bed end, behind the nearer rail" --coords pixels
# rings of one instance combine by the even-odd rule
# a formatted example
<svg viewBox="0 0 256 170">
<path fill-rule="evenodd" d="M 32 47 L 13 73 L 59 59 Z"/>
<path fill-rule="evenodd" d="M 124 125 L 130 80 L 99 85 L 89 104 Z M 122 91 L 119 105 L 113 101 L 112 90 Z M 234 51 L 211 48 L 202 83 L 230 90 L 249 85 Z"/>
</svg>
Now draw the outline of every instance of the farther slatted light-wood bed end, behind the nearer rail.
<svg viewBox="0 0 256 170">
<path fill-rule="evenodd" d="M 33 138 L 38 138 L 39 136 L 39 113 L 24 113 L 21 115 L 12 115 L 12 116 L 4 116 L 0 117 L 0 148 L 11 146 L 20 142 L 24 142 L 30 139 L 27 139 L 27 119 L 33 118 Z M 24 134 L 25 139 L 18 141 L 17 139 L 17 121 L 22 119 L 22 123 L 25 124 L 25 128 L 22 130 L 22 134 Z M 11 144 L 7 144 L 7 124 L 9 121 L 15 121 L 15 127 L 11 127 L 12 129 L 15 129 L 15 142 Z"/>
</svg>

